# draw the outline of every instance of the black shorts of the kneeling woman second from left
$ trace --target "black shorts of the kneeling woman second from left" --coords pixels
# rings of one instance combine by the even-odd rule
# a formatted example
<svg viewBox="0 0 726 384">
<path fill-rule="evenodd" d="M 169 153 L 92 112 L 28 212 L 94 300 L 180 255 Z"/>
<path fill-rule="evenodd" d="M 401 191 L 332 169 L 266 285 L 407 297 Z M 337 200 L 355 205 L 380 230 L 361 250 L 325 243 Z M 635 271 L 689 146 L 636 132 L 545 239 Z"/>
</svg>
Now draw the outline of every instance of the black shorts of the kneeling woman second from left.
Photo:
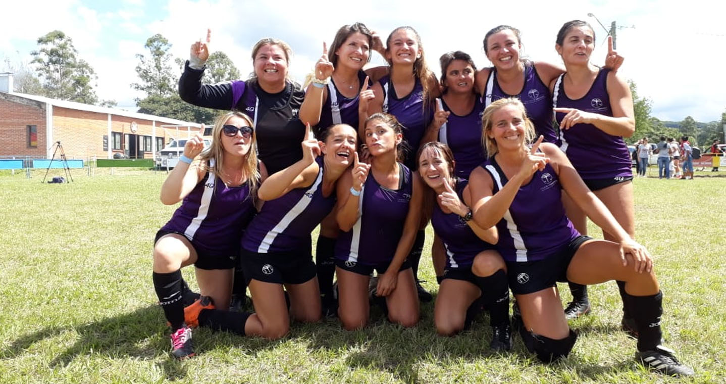
<svg viewBox="0 0 726 384">
<path fill-rule="evenodd" d="M 272 253 L 256 253 L 242 248 L 240 259 L 247 284 L 252 279 L 275 284 L 302 284 L 317 273 L 310 248 Z"/>
</svg>

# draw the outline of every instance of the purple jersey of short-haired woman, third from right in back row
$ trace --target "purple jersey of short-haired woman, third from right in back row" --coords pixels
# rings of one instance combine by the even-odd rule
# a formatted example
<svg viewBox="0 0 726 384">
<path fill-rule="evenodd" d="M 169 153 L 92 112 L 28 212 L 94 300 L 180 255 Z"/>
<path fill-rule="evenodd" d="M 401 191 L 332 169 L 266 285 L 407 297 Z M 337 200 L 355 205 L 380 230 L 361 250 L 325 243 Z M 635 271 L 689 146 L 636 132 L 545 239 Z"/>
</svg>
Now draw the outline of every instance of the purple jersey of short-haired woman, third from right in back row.
<svg viewBox="0 0 726 384">
<path fill-rule="evenodd" d="M 444 99 L 441 99 L 444 110 L 451 112 Z M 456 161 L 454 176 L 468 179 L 469 173 L 486 159 L 486 150 L 481 145 L 481 115 L 484 103 L 477 97 L 474 109 L 468 115 L 459 116 L 452 112 L 446 123 L 439 128 L 439 142 L 451 148 Z"/>
</svg>

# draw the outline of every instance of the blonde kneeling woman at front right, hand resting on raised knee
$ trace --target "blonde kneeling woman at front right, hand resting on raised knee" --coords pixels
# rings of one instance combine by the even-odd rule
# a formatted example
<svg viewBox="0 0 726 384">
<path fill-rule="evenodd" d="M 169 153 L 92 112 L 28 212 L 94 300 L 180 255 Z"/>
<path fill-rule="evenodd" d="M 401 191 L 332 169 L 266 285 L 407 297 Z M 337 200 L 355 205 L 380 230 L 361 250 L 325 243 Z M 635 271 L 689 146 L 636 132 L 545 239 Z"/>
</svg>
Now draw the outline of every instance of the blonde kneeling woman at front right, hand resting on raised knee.
<svg viewBox="0 0 726 384">
<path fill-rule="evenodd" d="M 518 99 L 492 102 L 482 126 L 489 160 L 471 174 L 473 219 L 482 228 L 496 224 L 499 229 L 497 248 L 507 263 L 529 351 L 554 361 L 575 343 L 556 281 L 590 285 L 618 279 L 625 282 L 624 305 L 639 331 L 637 360 L 666 375 L 693 375 L 673 351 L 660 346 L 663 295 L 648 250 L 587 189 L 562 151 L 540 144 L 542 136 L 527 147 L 534 127 Z M 565 216 L 561 189 L 615 241 L 581 236 Z"/>
</svg>

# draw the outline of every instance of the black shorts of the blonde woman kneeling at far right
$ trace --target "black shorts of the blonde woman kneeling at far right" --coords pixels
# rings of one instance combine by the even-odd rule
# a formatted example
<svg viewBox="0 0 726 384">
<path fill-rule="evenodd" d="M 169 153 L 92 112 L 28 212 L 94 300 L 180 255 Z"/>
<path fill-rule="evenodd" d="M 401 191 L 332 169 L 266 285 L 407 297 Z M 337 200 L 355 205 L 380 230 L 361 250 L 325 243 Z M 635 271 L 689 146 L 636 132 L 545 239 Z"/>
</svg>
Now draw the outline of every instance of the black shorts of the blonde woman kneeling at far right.
<svg viewBox="0 0 726 384">
<path fill-rule="evenodd" d="M 567 267 L 572 256 L 575 256 L 580 245 L 587 240 L 592 240 L 592 237 L 575 237 L 552 256 L 542 260 L 507 261 L 510 289 L 515 295 L 526 295 L 554 287 L 556 282 L 566 282 Z"/>
</svg>

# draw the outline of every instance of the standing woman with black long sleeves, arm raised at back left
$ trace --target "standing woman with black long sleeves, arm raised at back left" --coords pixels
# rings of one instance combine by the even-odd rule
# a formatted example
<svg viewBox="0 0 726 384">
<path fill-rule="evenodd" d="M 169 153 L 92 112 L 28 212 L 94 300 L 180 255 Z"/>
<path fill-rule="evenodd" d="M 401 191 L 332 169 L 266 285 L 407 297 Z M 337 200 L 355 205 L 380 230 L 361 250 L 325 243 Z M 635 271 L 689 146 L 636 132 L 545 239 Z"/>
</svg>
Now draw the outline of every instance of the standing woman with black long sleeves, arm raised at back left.
<svg viewBox="0 0 726 384">
<path fill-rule="evenodd" d="M 287 66 L 293 52 L 285 41 L 263 38 L 252 49 L 253 75 L 247 81 L 202 84 L 209 58 L 211 32 L 206 42 L 197 41 L 179 78 L 179 97 L 199 107 L 245 111 L 253 117 L 260 160 L 276 173 L 303 158 L 300 142 L 305 126 L 298 111 L 305 94 L 289 79 Z M 237 266 L 236 274 L 241 273 Z M 240 275 L 241 276 L 241 275 Z M 244 277 L 234 279 L 234 308 L 245 300 Z"/>
</svg>

